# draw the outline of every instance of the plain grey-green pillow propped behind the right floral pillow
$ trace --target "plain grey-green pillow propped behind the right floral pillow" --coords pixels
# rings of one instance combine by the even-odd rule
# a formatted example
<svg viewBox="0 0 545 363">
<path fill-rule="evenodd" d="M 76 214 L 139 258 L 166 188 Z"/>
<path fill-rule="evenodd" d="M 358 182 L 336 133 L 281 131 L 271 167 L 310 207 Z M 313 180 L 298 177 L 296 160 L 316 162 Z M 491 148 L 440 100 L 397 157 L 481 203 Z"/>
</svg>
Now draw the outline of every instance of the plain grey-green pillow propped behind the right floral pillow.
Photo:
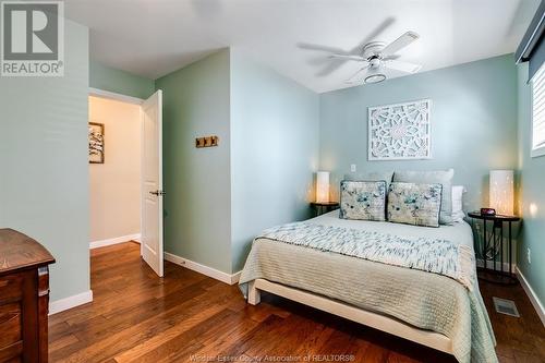
<svg viewBox="0 0 545 363">
<path fill-rule="evenodd" d="M 403 183 L 423 183 L 423 184 L 441 184 L 441 211 L 439 222 L 441 225 L 452 225 L 452 178 L 455 170 L 439 171 L 396 171 L 393 173 L 395 182 Z"/>
</svg>

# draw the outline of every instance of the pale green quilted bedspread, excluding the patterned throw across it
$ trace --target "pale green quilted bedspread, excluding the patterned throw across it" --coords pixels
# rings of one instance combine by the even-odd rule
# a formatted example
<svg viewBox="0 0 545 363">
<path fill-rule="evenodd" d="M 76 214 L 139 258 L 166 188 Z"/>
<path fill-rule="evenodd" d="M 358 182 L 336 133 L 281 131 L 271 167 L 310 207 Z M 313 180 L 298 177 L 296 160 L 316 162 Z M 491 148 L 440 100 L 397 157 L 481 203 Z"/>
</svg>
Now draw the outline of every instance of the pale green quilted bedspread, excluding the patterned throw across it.
<svg viewBox="0 0 545 363">
<path fill-rule="evenodd" d="M 339 221 L 336 213 L 313 221 L 326 226 L 350 226 L 403 235 L 422 231 L 449 239 L 465 240 L 468 225 L 429 229 L 397 227 L 388 222 Z M 350 223 L 355 222 L 355 223 Z M 435 231 L 432 231 L 435 230 Z M 473 266 L 474 268 L 474 266 Z M 388 315 L 421 329 L 443 334 L 452 340 L 459 362 L 497 362 L 494 332 L 486 307 L 475 288 L 437 274 L 392 266 L 335 252 L 257 238 L 240 278 L 242 291 L 247 282 L 263 278 L 310 291 L 368 311 Z"/>
</svg>

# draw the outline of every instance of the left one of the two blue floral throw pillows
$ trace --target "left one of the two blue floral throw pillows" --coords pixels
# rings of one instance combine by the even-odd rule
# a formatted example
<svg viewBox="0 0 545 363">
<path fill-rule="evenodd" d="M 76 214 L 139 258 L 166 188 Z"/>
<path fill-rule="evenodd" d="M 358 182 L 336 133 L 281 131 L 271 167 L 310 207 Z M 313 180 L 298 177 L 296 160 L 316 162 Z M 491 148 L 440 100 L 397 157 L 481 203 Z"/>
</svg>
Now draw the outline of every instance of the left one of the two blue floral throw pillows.
<svg viewBox="0 0 545 363">
<path fill-rule="evenodd" d="M 340 218 L 386 220 L 386 181 L 341 181 Z"/>
</svg>

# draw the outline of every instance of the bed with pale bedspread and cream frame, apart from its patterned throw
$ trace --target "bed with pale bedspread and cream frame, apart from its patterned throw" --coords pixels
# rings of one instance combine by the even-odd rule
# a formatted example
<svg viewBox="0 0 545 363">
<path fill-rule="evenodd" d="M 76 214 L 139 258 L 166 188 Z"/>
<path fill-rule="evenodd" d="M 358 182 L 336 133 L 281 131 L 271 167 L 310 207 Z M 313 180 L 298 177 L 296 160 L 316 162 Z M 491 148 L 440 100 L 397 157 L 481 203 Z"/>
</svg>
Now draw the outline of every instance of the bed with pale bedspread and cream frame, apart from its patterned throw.
<svg viewBox="0 0 545 363">
<path fill-rule="evenodd" d="M 465 222 L 439 228 L 346 220 L 339 211 L 310 219 L 324 227 L 445 239 L 473 249 Z M 471 270 L 475 265 L 472 259 Z M 497 362 L 495 338 L 476 278 L 468 289 L 450 277 L 420 269 L 284 243 L 254 240 L 240 278 L 249 303 L 259 292 L 342 316 L 414 342 L 450 353 L 459 362 Z"/>
</svg>

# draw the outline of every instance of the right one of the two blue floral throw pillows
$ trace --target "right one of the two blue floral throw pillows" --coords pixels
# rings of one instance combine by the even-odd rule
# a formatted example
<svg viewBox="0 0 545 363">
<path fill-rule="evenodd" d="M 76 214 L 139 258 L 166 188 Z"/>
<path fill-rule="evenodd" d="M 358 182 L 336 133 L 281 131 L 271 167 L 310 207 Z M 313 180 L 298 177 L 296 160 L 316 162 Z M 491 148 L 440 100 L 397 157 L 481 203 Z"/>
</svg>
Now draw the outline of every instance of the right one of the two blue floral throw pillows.
<svg viewBox="0 0 545 363">
<path fill-rule="evenodd" d="M 388 220 L 439 227 L 441 194 L 441 184 L 391 183 L 388 193 Z"/>
</svg>

